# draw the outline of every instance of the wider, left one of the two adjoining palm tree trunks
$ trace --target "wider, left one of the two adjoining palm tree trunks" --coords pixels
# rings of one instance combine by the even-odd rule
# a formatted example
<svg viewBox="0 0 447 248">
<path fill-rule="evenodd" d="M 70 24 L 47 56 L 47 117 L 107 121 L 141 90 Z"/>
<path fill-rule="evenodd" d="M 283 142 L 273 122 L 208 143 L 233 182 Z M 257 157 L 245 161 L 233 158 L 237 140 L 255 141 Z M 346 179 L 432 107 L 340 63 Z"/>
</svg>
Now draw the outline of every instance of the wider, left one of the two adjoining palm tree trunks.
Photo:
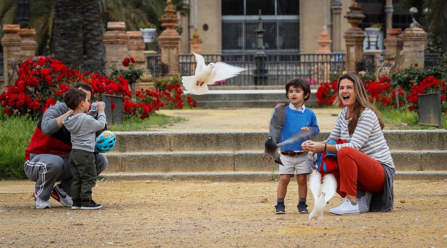
<svg viewBox="0 0 447 248">
<path fill-rule="evenodd" d="M 53 0 L 54 56 L 71 69 L 83 66 L 82 0 Z"/>
</svg>

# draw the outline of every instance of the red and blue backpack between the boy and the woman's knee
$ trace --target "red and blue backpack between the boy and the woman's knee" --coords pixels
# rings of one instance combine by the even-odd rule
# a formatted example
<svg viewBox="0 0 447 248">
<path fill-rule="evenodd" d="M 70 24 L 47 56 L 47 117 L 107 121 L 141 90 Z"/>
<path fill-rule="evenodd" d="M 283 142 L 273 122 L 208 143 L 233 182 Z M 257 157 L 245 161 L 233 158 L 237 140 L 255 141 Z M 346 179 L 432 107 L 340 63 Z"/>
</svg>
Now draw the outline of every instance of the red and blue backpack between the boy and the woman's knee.
<svg viewBox="0 0 447 248">
<path fill-rule="evenodd" d="M 343 139 L 330 139 L 326 144 L 343 144 L 347 143 Z M 310 166 L 318 172 L 329 172 L 338 169 L 337 154 L 331 152 L 314 153 L 311 157 Z"/>
</svg>

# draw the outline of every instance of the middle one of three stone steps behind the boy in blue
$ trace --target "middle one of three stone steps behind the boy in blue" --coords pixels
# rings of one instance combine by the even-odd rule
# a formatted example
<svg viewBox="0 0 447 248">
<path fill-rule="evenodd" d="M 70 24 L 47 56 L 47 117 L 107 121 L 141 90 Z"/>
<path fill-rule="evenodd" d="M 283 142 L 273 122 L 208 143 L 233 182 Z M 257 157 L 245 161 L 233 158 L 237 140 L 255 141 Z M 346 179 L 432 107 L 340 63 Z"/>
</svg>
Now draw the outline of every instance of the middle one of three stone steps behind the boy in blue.
<svg viewBox="0 0 447 248">
<path fill-rule="evenodd" d="M 263 151 L 196 151 L 196 152 L 135 152 L 107 153 L 107 173 L 168 173 L 168 172 L 271 172 L 278 165 L 263 160 Z M 441 150 L 392 150 L 399 171 L 447 170 L 447 153 Z"/>
</svg>

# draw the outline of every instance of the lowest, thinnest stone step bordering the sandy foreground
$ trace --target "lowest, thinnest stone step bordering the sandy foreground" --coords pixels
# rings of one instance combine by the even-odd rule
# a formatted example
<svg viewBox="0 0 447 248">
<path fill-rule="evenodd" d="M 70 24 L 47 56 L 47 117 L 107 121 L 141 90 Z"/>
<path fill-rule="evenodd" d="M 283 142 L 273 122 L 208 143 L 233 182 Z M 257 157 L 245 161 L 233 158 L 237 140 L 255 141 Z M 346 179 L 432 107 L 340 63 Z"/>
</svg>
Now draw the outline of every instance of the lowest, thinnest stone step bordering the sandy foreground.
<svg viewBox="0 0 447 248">
<path fill-rule="evenodd" d="M 102 173 L 107 180 L 207 180 L 207 181 L 272 181 L 279 175 L 265 172 L 197 172 L 197 173 Z M 273 179 L 274 178 L 274 179 Z M 447 171 L 396 172 L 396 180 L 445 180 Z"/>
</svg>

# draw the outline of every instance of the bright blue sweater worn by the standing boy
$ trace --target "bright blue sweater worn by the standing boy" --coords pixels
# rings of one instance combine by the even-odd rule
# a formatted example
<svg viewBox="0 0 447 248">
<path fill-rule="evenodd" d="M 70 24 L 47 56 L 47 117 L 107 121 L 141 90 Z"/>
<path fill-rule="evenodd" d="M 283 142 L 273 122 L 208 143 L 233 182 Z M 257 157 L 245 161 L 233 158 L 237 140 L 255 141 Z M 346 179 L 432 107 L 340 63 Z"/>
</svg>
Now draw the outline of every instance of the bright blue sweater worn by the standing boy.
<svg viewBox="0 0 447 248">
<path fill-rule="evenodd" d="M 316 122 L 316 115 L 311 109 L 306 108 L 302 113 L 301 111 L 290 109 L 289 106 L 284 108 L 286 108 L 284 113 L 285 120 L 281 129 L 280 142 L 301 132 L 302 127 L 309 127 L 311 136 L 316 136 L 320 133 L 320 128 Z M 310 137 L 306 137 L 294 144 L 288 144 L 287 146 L 281 147 L 281 151 L 303 151 L 301 144 L 309 139 Z"/>
</svg>

